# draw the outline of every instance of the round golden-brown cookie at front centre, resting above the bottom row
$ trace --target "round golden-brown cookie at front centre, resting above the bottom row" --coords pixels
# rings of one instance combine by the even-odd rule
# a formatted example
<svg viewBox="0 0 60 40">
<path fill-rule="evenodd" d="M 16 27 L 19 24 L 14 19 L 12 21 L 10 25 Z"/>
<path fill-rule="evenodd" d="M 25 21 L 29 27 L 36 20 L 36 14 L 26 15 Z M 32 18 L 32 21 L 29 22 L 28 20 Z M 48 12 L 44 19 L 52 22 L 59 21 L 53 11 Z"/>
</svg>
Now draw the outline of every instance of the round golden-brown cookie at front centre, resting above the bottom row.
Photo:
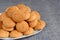
<svg viewBox="0 0 60 40">
<path fill-rule="evenodd" d="M 29 25 L 26 21 L 21 21 L 20 23 L 16 24 L 16 29 L 19 32 L 25 32 L 29 29 Z"/>
</svg>

